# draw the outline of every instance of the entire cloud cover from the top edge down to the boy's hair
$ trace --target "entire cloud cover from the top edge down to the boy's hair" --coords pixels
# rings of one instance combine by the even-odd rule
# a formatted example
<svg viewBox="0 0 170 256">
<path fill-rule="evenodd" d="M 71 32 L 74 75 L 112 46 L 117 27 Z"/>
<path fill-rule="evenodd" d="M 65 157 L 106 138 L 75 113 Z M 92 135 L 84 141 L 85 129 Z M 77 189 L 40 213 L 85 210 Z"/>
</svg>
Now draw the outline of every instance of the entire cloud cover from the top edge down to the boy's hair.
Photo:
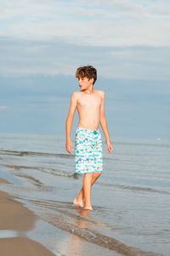
<svg viewBox="0 0 170 256">
<path fill-rule="evenodd" d="M 7 0 L 0 3 L 1 76 L 73 75 L 169 80 L 166 0 Z"/>
</svg>

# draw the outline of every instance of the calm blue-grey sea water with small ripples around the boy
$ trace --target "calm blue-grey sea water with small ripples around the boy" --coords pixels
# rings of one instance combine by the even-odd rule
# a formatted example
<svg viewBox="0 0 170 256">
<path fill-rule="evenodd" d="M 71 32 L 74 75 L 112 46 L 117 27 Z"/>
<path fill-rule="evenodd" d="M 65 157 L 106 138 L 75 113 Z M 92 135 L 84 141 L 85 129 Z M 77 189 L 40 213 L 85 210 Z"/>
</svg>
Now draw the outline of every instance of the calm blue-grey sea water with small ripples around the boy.
<svg viewBox="0 0 170 256">
<path fill-rule="evenodd" d="M 0 177 L 12 183 L 1 190 L 40 217 L 28 236 L 56 255 L 87 255 L 93 246 L 101 255 L 170 255 L 170 140 L 113 138 L 111 154 L 102 140 L 92 212 L 72 204 L 83 176 L 57 134 L 0 134 Z"/>
</svg>

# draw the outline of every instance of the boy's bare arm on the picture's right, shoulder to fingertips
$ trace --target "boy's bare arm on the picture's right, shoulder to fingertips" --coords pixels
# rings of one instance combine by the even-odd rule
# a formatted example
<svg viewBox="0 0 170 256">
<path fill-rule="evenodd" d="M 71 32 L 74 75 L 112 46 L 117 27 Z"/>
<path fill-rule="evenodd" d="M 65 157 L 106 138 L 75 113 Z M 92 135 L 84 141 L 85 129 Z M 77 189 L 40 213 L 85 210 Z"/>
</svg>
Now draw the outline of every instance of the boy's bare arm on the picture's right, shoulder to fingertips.
<svg viewBox="0 0 170 256">
<path fill-rule="evenodd" d="M 108 146 L 108 153 L 111 153 L 111 151 L 113 151 L 113 146 L 111 145 L 111 139 L 109 136 L 107 121 L 105 118 L 105 92 L 104 91 L 102 91 L 101 97 L 102 97 L 102 103 L 101 103 L 101 107 L 100 107 L 99 122 L 100 122 L 101 128 L 103 129 L 104 134 L 105 134 L 105 142 Z"/>
</svg>

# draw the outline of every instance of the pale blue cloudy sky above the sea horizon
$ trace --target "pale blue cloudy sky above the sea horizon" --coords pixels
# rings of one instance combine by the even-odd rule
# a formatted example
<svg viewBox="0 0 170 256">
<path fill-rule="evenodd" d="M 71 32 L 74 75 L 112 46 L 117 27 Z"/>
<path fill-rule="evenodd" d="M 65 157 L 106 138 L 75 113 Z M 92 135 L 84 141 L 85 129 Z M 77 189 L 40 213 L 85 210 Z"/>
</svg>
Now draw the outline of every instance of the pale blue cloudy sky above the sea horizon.
<svg viewBox="0 0 170 256">
<path fill-rule="evenodd" d="M 169 21 L 167 0 L 0 0 L 0 132 L 64 134 L 94 65 L 111 138 L 169 139 Z"/>
</svg>

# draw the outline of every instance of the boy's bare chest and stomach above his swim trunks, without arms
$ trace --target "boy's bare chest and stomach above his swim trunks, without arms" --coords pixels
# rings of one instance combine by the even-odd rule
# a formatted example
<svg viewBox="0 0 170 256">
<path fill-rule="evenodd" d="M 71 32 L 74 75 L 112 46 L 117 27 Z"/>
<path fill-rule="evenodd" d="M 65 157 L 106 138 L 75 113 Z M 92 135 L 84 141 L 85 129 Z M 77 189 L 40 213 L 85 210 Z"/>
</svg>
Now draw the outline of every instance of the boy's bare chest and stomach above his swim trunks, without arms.
<svg viewBox="0 0 170 256">
<path fill-rule="evenodd" d="M 101 91 L 94 90 L 93 94 L 78 92 L 77 111 L 79 115 L 78 128 L 97 130 L 99 128 Z"/>
</svg>

